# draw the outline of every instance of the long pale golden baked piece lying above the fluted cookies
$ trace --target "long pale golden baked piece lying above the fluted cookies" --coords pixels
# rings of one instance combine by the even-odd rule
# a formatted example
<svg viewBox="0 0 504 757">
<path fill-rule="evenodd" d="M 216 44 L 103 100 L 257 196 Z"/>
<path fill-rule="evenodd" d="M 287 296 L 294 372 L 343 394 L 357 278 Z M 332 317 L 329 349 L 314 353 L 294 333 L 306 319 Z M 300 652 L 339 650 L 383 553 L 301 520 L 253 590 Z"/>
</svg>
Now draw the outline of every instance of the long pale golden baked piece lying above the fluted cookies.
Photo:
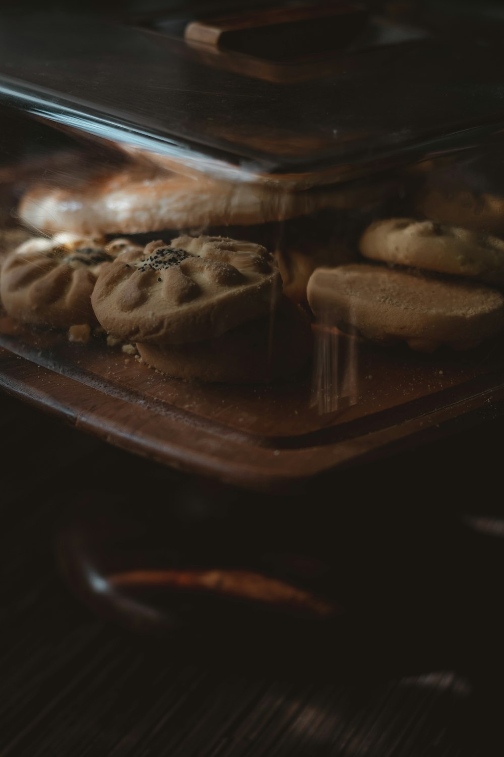
<svg viewBox="0 0 504 757">
<path fill-rule="evenodd" d="M 41 182 L 26 192 L 18 212 L 24 223 L 48 233 L 136 234 L 283 221 L 316 207 L 307 193 L 144 167 L 73 188 Z"/>
</svg>

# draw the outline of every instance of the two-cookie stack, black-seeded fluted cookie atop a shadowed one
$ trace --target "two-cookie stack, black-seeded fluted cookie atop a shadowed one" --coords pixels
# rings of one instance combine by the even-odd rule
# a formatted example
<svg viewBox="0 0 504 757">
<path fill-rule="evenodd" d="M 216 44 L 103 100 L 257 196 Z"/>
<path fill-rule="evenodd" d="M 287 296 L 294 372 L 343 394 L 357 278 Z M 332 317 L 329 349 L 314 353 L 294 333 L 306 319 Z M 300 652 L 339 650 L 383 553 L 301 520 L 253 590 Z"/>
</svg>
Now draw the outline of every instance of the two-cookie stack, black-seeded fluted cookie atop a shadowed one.
<svg viewBox="0 0 504 757">
<path fill-rule="evenodd" d="M 267 382 L 295 375 L 311 350 L 308 316 L 281 287 L 260 245 L 182 236 L 119 255 L 91 300 L 108 332 L 168 375 Z"/>
</svg>

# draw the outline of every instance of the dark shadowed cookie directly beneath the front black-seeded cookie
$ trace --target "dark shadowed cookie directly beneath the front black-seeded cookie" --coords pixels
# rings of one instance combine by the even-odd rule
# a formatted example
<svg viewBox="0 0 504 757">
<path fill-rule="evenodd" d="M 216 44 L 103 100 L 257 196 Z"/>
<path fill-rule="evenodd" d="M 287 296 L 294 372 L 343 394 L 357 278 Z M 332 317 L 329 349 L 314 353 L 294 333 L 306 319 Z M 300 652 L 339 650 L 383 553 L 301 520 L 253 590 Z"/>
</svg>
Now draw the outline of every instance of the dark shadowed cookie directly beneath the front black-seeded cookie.
<svg viewBox="0 0 504 757">
<path fill-rule="evenodd" d="M 191 344 L 139 344 L 147 365 L 187 381 L 257 384 L 293 378 L 308 362 L 310 319 L 285 296 L 268 316 Z"/>
</svg>

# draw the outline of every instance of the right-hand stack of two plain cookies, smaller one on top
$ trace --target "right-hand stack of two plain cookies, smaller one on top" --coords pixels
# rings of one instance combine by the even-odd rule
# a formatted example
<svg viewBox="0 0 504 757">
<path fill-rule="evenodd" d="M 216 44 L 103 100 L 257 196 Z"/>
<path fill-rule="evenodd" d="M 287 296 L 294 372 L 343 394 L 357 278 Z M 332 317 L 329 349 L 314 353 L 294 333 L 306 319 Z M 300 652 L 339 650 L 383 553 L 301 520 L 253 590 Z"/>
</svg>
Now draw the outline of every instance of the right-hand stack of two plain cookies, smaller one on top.
<svg viewBox="0 0 504 757">
<path fill-rule="evenodd" d="M 379 264 L 319 268 L 311 276 L 308 301 L 321 322 L 425 352 L 476 347 L 504 329 L 502 239 L 391 218 L 369 226 L 359 248 Z"/>
</svg>

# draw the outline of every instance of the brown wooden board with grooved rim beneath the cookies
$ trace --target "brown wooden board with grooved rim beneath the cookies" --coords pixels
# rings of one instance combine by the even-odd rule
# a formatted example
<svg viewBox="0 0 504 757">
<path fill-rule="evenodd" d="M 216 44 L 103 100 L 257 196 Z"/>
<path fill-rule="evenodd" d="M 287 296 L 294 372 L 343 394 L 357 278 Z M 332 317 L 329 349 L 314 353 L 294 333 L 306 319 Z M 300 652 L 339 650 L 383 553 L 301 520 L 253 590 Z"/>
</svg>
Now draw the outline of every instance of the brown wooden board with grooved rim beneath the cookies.
<svg viewBox="0 0 504 757">
<path fill-rule="evenodd" d="M 30 332 L 3 317 L 0 385 L 125 450 L 284 491 L 500 412 L 502 346 L 425 356 L 340 337 L 332 344 L 343 366 L 336 408 L 335 387 L 323 375 L 315 388 L 308 375 L 271 386 L 187 383 L 101 338 L 69 344 L 63 334 Z"/>
</svg>

